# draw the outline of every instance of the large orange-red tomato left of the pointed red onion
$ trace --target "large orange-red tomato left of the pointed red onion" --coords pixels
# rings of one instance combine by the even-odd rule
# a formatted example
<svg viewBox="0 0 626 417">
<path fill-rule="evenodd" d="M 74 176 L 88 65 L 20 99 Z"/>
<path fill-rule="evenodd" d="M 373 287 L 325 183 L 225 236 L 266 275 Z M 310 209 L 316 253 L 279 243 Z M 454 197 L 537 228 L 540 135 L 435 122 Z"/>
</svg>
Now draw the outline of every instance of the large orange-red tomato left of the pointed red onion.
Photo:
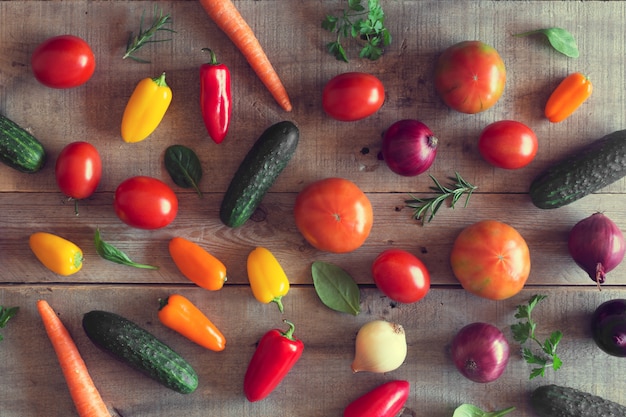
<svg viewBox="0 0 626 417">
<path fill-rule="evenodd" d="M 456 238 L 450 263 L 463 288 L 489 300 L 519 293 L 530 274 L 530 252 L 515 228 L 495 220 L 466 227 Z"/>
</svg>

